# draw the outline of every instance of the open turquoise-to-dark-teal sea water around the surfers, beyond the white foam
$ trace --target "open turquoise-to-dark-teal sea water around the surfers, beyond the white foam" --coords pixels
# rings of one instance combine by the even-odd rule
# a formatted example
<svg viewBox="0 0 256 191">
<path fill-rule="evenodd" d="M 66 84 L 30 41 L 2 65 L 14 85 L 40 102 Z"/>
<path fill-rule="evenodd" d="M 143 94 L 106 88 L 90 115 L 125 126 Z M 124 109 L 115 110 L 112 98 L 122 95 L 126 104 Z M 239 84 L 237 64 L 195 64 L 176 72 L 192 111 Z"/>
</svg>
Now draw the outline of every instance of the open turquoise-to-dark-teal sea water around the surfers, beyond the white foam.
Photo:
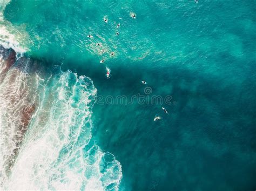
<svg viewBox="0 0 256 191">
<path fill-rule="evenodd" d="M 44 73 L 53 72 L 53 79 L 55 65 L 64 73 L 90 77 L 96 99 L 124 95 L 130 100 L 138 93 L 147 95 L 145 99 L 172 96 L 168 104 L 96 100 L 93 144 L 122 165 L 120 190 L 253 190 L 255 10 L 254 1 L 12 0 L 1 26 L 17 36 L 15 45 L 27 57 L 41 60 Z M 13 39 L 5 36 L 0 35 L 1 42 L 9 40 L 11 46 Z M 104 64 L 99 63 L 102 59 Z M 47 87 L 52 94 L 54 80 Z M 145 87 L 150 87 L 150 94 L 145 94 Z M 77 95 L 76 100 L 83 98 Z M 56 111 L 51 112 L 54 116 Z M 153 121 L 156 115 L 163 119 Z M 33 128 L 31 122 L 29 129 Z"/>
</svg>

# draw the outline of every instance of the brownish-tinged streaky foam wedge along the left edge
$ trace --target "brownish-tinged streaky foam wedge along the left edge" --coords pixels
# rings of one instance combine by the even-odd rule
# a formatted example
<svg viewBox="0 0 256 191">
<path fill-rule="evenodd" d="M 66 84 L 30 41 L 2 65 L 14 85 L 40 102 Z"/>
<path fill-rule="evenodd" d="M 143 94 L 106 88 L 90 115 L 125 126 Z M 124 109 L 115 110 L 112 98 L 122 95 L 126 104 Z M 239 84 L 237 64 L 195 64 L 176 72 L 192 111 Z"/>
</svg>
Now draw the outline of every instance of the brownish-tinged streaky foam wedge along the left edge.
<svg viewBox="0 0 256 191">
<path fill-rule="evenodd" d="M 24 69 L 26 69 L 24 63 Z M 7 70 L 6 70 L 7 69 Z M 27 118 L 31 117 L 35 103 L 35 87 L 32 76 L 15 67 L 8 70 L 0 60 L 0 185 L 8 179 L 16 153 L 24 139 Z"/>
</svg>

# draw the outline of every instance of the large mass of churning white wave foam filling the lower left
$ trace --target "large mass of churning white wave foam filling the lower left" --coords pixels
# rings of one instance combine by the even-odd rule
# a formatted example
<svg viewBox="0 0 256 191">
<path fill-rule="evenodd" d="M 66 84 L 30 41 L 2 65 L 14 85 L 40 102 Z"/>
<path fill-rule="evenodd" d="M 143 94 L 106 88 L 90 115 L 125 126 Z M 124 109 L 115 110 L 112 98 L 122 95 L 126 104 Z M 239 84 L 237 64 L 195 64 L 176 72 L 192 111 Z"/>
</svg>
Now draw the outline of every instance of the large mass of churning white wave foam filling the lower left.
<svg viewBox="0 0 256 191">
<path fill-rule="evenodd" d="M 92 80 L 24 57 L 8 65 L 2 50 L 0 189 L 118 190 L 120 162 L 91 141 Z"/>
</svg>

